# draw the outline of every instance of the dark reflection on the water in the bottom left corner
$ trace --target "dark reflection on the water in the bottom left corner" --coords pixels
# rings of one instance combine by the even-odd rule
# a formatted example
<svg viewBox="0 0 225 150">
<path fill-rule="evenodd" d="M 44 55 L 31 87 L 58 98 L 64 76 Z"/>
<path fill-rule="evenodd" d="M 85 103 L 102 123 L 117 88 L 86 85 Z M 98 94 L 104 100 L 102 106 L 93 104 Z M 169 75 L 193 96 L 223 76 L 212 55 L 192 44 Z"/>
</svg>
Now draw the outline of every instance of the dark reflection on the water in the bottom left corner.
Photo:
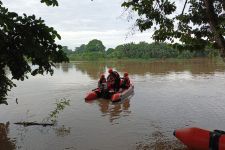
<svg viewBox="0 0 225 150">
<path fill-rule="evenodd" d="M 16 149 L 15 141 L 8 137 L 9 122 L 6 124 L 0 123 L 0 149 L 1 150 L 14 150 Z"/>
</svg>

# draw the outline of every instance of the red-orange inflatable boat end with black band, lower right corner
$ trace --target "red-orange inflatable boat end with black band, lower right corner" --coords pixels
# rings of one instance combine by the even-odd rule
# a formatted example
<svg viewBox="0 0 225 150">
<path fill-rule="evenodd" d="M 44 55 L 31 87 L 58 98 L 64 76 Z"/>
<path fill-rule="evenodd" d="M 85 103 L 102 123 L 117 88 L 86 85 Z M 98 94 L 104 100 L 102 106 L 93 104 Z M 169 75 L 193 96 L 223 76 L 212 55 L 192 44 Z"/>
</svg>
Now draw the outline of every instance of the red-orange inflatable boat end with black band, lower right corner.
<svg viewBox="0 0 225 150">
<path fill-rule="evenodd" d="M 175 130 L 174 136 L 191 150 L 225 150 L 224 131 L 183 128 Z"/>
</svg>

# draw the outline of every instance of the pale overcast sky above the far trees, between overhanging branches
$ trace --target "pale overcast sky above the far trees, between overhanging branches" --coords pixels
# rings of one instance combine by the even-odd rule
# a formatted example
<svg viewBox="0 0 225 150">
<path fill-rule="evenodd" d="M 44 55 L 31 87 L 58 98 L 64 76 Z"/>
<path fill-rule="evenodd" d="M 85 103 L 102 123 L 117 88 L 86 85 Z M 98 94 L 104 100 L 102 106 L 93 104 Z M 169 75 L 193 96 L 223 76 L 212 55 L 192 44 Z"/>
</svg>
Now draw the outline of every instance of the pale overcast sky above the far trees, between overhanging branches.
<svg viewBox="0 0 225 150">
<path fill-rule="evenodd" d="M 132 32 L 135 20 L 128 21 L 128 12 L 121 7 L 123 1 L 58 0 L 58 7 L 48 7 L 40 0 L 2 0 L 9 11 L 44 19 L 61 35 L 57 43 L 72 50 L 92 39 L 101 40 L 106 48 L 129 42 L 152 42 L 150 31 Z"/>
</svg>

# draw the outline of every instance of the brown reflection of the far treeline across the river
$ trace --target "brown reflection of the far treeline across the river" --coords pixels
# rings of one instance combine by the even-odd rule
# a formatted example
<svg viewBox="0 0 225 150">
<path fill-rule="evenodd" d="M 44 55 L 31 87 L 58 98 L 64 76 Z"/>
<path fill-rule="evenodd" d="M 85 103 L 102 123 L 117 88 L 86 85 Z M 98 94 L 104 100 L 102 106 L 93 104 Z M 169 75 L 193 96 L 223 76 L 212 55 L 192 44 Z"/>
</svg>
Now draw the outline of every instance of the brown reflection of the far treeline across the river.
<svg viewBox="0 0 225 150">
<path fill-rule="evenodd" d="M 112 62 L 72 62 L 56 64 L 63 72 L 76 68 L 83 74 L 88 74 L 92 79 L 98 79 L 106 68 L 113 67 L 119 72 L 129 72 L 130 75 L 165 75 L 171 72 L 188 71 L 192 75 L 213 74 L 215 71 L 225 70 L 224 64 L 218 60 L 190 59 L 190 60 L 158 60 L 153 62 L 145 61 L 112 61 Z"/>
</svg>

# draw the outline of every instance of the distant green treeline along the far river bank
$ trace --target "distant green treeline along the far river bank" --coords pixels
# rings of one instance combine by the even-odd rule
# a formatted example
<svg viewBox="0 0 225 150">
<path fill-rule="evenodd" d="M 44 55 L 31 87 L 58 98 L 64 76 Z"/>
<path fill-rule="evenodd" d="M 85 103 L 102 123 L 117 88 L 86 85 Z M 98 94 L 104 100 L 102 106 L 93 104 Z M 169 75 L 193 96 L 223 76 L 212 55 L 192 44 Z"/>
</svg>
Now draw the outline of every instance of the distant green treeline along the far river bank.
<svg viewBox="0 0 225 150">
<path fill-rule="evenodd" d="M 151 58 L 193 58 L 193 57 L 217 57 L 219 52 L 211 48 L 204 50 L 189 50 L 182 45 L 170 45 L 167 43 L 140 42 L 118 45 L 115 49 L 106 50 L 102 41 L 94 39 L 87 45 L 82 44 L 74 51 L 63 47 L 70 60 L 104 60 L 104 59 L 151 59 Z"/>
</svg>

